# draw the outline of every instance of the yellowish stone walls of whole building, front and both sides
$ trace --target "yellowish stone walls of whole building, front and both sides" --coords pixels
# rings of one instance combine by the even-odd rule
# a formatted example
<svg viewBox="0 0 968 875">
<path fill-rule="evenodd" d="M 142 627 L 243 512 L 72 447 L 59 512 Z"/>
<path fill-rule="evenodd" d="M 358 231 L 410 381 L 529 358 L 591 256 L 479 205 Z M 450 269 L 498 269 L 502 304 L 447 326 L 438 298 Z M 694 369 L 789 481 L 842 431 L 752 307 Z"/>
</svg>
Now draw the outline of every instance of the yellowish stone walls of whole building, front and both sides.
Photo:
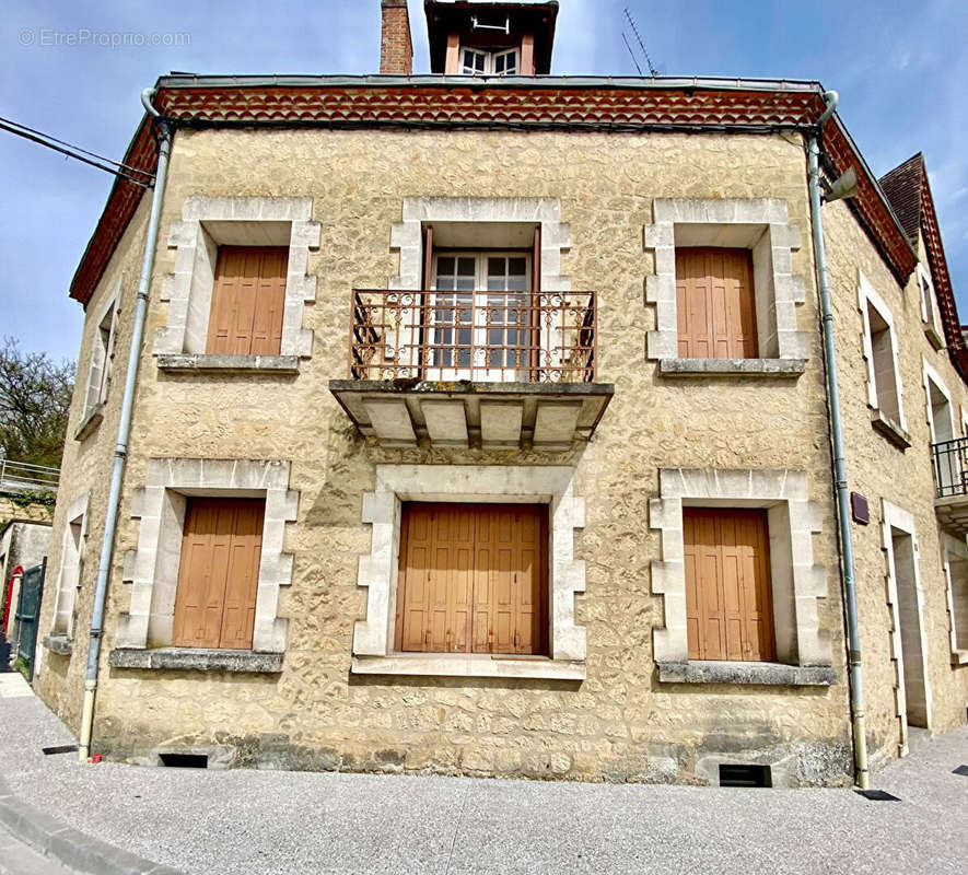
<svg viewBox="0 0 968 875">
<path fill-rule="evenodd" d="M 315 281 L 315 295 L 302 296 L 301 329 L 302 336 L 312 332 L 312 350 L 296 351 L 302 357 L 298 373 L 253 373 L 164 369 L 150 342 L 142 349 L 94 749 L 139 762 L 156 762 L 159 751 L 182 750 L 210 752 L 213 761 L 237 766 L 711 783 L 718 781 L 721 762 L 761 762 L 771 766 L 777 785 L 850 781 L 837 524 L 798 142 L 751 133 L 179 130 L 155 254 L 148 338 L 173 323 L 175 301 L 164 290 L 172 284 L 165 278 L 182 269 L 182 237 L 175 232 L 185 221 L 186 205 L 201 198 L 304 199 L 311 205 L 301 221 L 318 228 L 318 248 L 308 250 L 304 271 Z M 411 276 L 412 253 L 404 245 L 412 244 L 413 236 L 406 233 L 412 220 L 408 205 L 415 209 L 447 198 L 560 205 L 553 221 L 567 226 L 568 236 L 545 241 L 560 253 L 555 279 L 597 290 L 596 378 L 615 385 L 590 442 L 544 452 L 387 448 L 364 440 L 327 390 L 328 381 L 347 376 L 351 290 L 387 288 L 392 278 Z M 693 373 L 683 381 L 664 373 L 657 358 L 667 352 L 652 349 L 652 338 L 668 330 L 669 319 L 661 305 L 669 291 L 667 258 L 655 248 L 668 244 L 668 233 L 655 230 L 662 205 L 715 200 L 740 205 L 740 210 L 749 205 L 750 214 L 759 210 L 749 222 L 769 226 L 774 300 L 765 304 L 762 316 L 763 325 L 772 326 L 778 360 L 796 362 L 783 373 L 769 365 L 757 373 Z M 92 315 L 82 361 L 98 295 L 109 294 L 121 276 L 115 348 L 130 346 L 147 210 L 144 198 L 88 306 Z M 928 341 L 922 342 L 920 325 L 909 330 L 903 322 L 905 314 L 915 312 L 911 302 L 917 298 L 910 288 L 897 285 L 848 209 L 827 207 L 825 219 L 852 454 L 848 467 L 852 488 L 864 492 L 872 508 L 871 525 L 855 527 L 858 579 L 868 726 L 874 748 L 886 757 L 898 752 L 901 736 L 879 499 L 913 513 L 921 541 L 925 640 L 935 690 L 932 728 L 964 719 L 965 680 L 953 672 L 948 653 L 948 608 L 919 388 Z M 177 250 L 166 245 L 170 240 Z M 643 240 L 650 248 L 643 248 Z M 860 366 L 859 270 L 903 325 L 901 377 L 912 439 L 907 452 L 917 464 L 908 458 L 901 464 L 898 450 L 871 425 Z M 117 386 L 125 354 L 114 363 Z M 944 353 L 932 352 L 932 361 L 964 404 L 964 387 Z M 118 393 L 112 393 L 100 427 L 70 443 L 65 454 L 55 545 L 61 542 L 68 503 L 91 491 L 79 630 L 90 620 L 118 400 Z M 72 425 L 81 406 L 79 400 Z M 205 657 L 154 658 L 150 650 L 142 651 L 144 656 L 125 655 L 132 644 L 138 650 L 150 643 L 131 638 L 123 620 L 151 612 L 145 614 L 143 597 L 147 579 L 136 571 L 142 562 L 143 493 L 156 486 L 152 471 L 159 460 L 188 456 L 276 459 L 289 466 L 285 489 L 299 501 L 279 514 L 277 546 L 280 555 L 292 557 L 291 583 L 276 587 L 271 615 L 285 627 L 281 672 L 275 670 L 277 662 L 267 668 Z M 434 471 L 458 467 L 503 467 L 511 479 L 544 468 L 570 471 L 572 508 L 562 529 L 572 542 L 561 561 L 562 569 L 572 570 L 561 572 L 570 576 L 555 581 L 552 591 L 556 618 L 560 608 L 571 623 L 561 640 L 562 661 L 580 670 L 557 677 L 354 670 L 354 661 L 359 667 L 361 660 L 386 657 L 388 592 L 386 569 L 378 565 L 386 562 L 383 541 L 393 537 L 397 488 L 382 486 L 381 472 L 417 471 L 419 477 L 425 469 L 432 480 Z M 742 470 L 748 482 L 763 472 L 761 490 L 754 486 L 738 498 L 723 493 L 726 500 L 786 508 L 791 551 L 784 573 L 791 585 L 784 596 L 790 606 L 783 620 L 790 645 L 784 662 L 800 675 L 785 670 L 790 666 L 754 678 L 739 670 L 690 672 L 688 665 L 660 673 L 662 648 L 670 660 L 683 656 L 681 640 L 674 645 L 662 634 L 679 627 L 680 590 L 669 585 L 668 574 L 664 584 L 656 574 L 657 567 L 677 559 L 669 534 L 674 525 L 662 520 L 686 494 L 673 498 L 663 487 L 662 478 L 675 469 L 701 469 L 712 479 Z M 778 472 L 790 472 L 790 492 L 777 486 Z M 128 553 L 137 561 L 126 563 Z M 51 561 L 56 565 L 59 557 Z M 53 610 L 45 599 L 44 633 L 53 625 Z M 374 652 L 381 646 L 383 653 Z M 79 631 L 72 654 L 47 654 L 37 680 L 45 701 L 72 726 L 80 719 L 85 657 Z"/>
</svg>

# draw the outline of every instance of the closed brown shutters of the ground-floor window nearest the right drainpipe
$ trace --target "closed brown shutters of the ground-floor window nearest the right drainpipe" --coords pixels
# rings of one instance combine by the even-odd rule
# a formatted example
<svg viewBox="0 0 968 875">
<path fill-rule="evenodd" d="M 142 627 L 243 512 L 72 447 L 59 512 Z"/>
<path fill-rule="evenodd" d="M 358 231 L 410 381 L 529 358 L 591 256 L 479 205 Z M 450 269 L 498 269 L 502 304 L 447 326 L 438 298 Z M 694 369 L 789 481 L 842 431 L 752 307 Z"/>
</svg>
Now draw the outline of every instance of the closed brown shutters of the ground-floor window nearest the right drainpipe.
<svg viewBox="0 0 968 875">
<path fill-rule="evenodd" d="M 775 660 L 766 511 L 683 510 L 690 660 Z"/>
</svg>

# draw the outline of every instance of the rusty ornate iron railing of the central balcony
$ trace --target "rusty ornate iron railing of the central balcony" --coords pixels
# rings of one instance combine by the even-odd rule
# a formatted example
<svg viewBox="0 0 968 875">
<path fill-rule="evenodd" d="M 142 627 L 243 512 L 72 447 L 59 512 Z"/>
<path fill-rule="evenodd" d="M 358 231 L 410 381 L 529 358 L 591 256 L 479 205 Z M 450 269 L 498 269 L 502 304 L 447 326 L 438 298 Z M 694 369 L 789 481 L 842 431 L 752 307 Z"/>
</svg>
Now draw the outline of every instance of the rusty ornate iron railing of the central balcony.
<svg viewBox="0 0 968 875">
<path fill-rule="evenodd" d="M 593 383 L 594 292 L 358 289 L 351 380 Z"/>
</svg>

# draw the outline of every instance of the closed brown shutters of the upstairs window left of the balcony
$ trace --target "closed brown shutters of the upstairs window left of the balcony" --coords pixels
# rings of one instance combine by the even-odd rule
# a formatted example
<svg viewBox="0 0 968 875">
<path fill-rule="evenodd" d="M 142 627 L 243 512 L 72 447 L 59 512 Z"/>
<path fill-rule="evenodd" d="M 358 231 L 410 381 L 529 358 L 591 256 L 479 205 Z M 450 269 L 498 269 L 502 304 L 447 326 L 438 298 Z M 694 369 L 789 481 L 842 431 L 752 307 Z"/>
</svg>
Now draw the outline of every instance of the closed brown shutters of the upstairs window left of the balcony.
<svg viewBox="0 0 968 875">
<path fill-rule="evenodd" d="M 208 352 L 279 354 L 288 264 L 284 246 L 219 247 Z"/>
</svg>

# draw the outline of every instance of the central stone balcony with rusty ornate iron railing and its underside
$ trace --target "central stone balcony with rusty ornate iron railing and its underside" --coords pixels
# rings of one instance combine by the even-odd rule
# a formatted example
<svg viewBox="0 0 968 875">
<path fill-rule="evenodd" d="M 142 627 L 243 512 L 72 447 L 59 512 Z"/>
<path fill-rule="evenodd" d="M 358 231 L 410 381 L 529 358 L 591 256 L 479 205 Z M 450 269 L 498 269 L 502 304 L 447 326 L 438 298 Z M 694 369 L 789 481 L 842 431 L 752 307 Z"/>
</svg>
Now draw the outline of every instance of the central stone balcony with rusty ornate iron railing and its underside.
<svg viewBox="0 0 968 875">
<path fill-rule="evenodd" d="M 595 382 L 594 292 L 354 290 L 330 392 L 382 446 L 564 451 L 615 392 Z"/>
</svg>

